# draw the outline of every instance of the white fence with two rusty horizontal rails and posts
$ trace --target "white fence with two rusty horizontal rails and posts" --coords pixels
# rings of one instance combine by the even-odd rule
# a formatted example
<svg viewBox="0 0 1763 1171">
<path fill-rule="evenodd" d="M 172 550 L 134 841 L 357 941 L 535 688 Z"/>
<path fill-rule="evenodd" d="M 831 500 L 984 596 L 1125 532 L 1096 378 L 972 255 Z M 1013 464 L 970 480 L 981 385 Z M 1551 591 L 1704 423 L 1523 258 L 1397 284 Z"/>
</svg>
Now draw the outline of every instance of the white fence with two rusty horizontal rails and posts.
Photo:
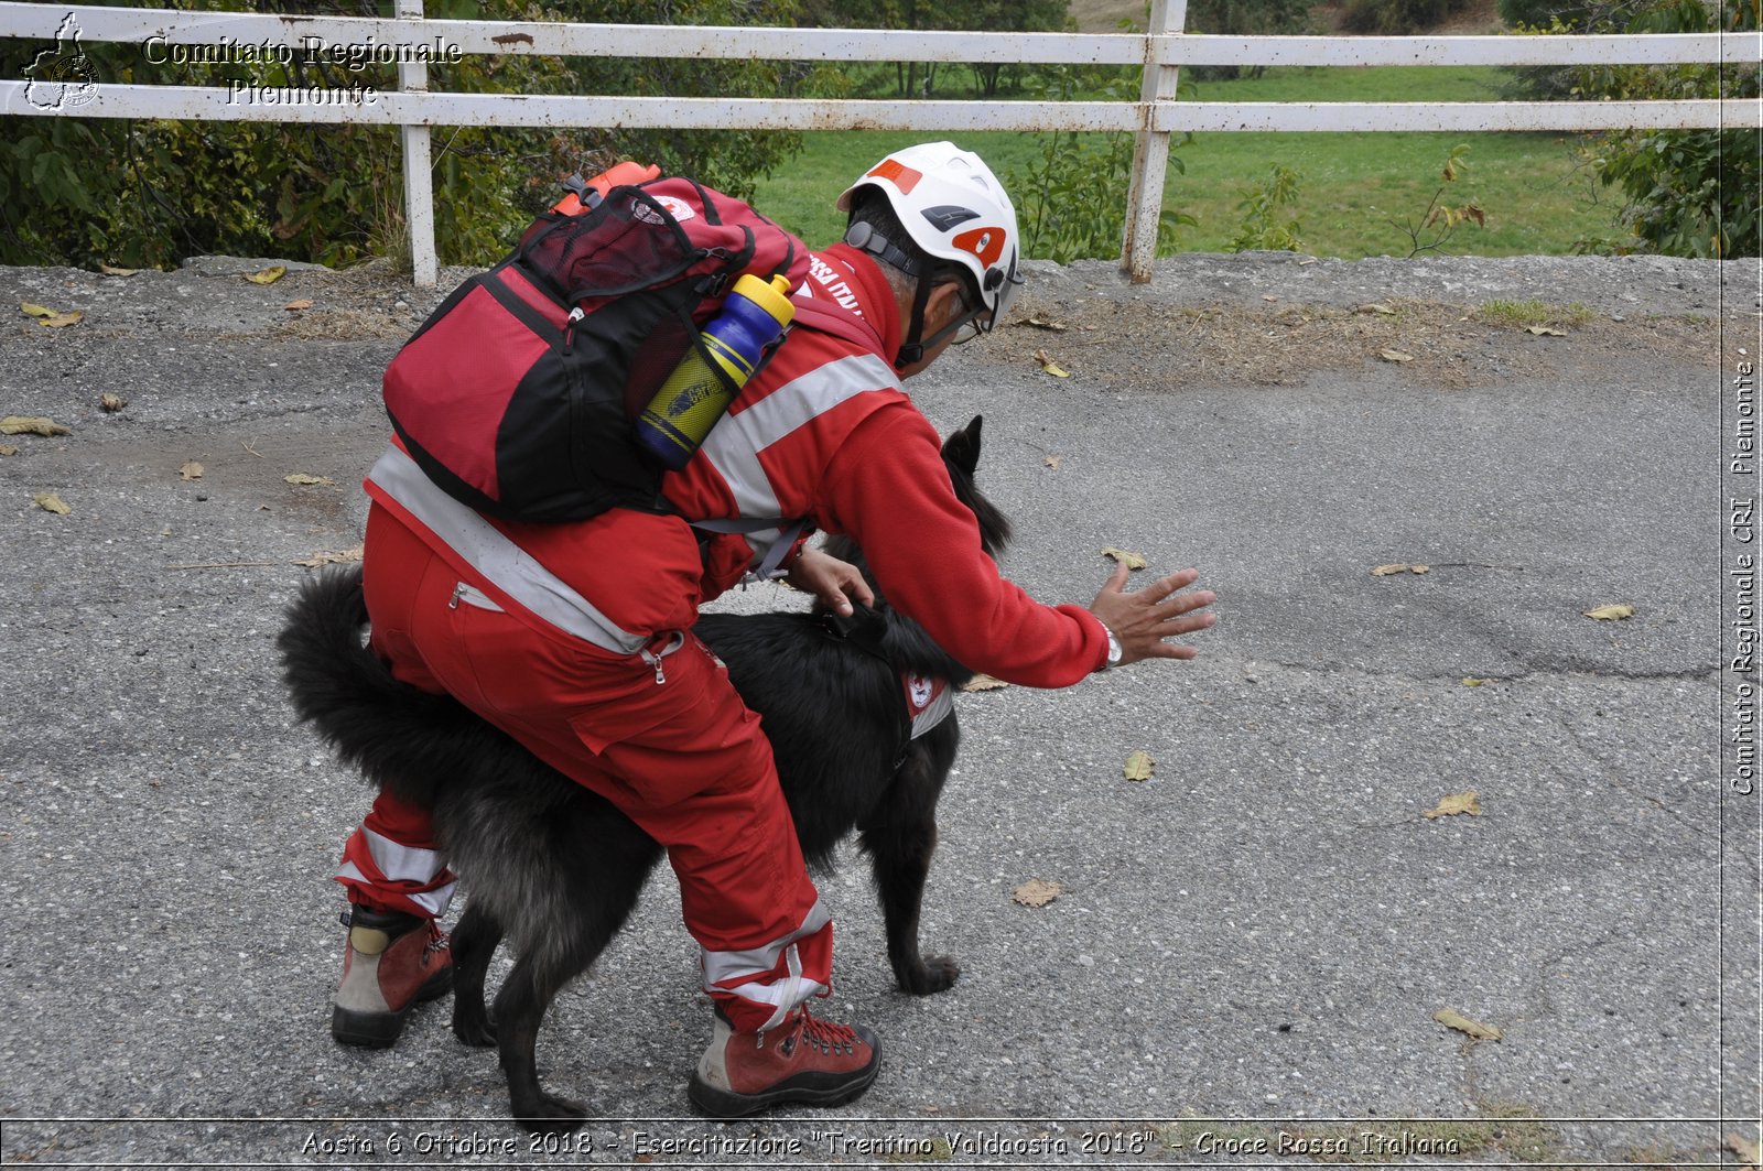
<svg viewBox="0 0 1763 1171">
<path fill-rule="evenodd" d="M 435 125 L 1132 131 L 1137 153 L 1121 265 L 1149 279 L 1169 168 L 1169 136 L 1188 131 L 1603 131 L 1763 127 L 1758 101 L 1670 102 L 1178 102 L 1181 65 L 1664 65 L 1756 67 L 1763 34 L 1571 37 L 1216 37 L 1183 34 L 1186 0 L 1153 0 L 1144 34 L 991 34 L 848 28 L 695 28 L 423 19 L 395 0 L 395 19 L 187 12 L 0 0 L 0 37 L 55 44 L 78 25 L 85 42 L 146 46 L 414 46 L 448 53 L 695 56 L 806 62 L 975 62 L 1137 65 L 1137 101 L 813 101 L 446 93 L 427 65 L 398 63 L 398 90 L 361 101 L 240 101 L 219 86 L 92 85 L 56 92 L 42 79 L 0 79 L 0 113 L 83 118 L 367 122 L 402 127 L 405 213 L 416 282 L 435 282 L 428 129 Z M 60 81 L 71 86 L 74 83 Z M 33 88 L 37 86 L 37 88 Z M 78 97 L 60 101 L 62 97 Z M 257 95 L 261 99 L 261 95 Z M 331 95 L 335 97 L 335 95 Z"/>
</svg>

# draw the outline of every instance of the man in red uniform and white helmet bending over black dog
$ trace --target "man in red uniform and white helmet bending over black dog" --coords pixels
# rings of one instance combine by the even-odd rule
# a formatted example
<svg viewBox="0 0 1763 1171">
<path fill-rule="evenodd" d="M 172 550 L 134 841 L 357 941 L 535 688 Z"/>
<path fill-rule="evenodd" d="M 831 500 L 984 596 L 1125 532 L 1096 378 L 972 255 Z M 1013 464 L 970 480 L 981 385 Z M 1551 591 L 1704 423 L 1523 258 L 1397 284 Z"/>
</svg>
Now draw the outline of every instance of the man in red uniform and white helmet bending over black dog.
<svg viewBox="0 0 1763 1171">
<path fill-rule="evenodd" d="M 677 515 L 488 518 L 397 446 L 367 483 L 372 645 L 393 674 L 457 697 L 666 848 L 716 1009 L 688 1095 L 716 1116 L 850 1100 L 880 1049 L 869 1030 L 809 1014 L 830 991 L 832 921 L 758 718 L 689 633 L 702 601 L 779 561 L 843 612 L 873 601 L 855 568 L 797 536 L 822 529 L 855 538 L 890 603 L 950 654 L 1008 682 L 1192 658 L 1165 638 L 1213 623 L 1213 596 L 1185 593 L 1192 570 L 1125 593 L 1120 568 L 1090 608 L 1045 607 L 980 550 L 901 379 L 996 326 L 1021 287 L 1015 212 L 986 164 L 913 146 L 839 206 L 844 242 L 813 257 L 790 342 L 666 476 Z M 714 533 L 755 520 L 776 524 Z M 338 880 L 353 908 L 333 1033 L 391 1044 L 411 1003 L 451 981 L 434 921 L 453 880 L 427 813 L 383 794 Z"/>
</svg>

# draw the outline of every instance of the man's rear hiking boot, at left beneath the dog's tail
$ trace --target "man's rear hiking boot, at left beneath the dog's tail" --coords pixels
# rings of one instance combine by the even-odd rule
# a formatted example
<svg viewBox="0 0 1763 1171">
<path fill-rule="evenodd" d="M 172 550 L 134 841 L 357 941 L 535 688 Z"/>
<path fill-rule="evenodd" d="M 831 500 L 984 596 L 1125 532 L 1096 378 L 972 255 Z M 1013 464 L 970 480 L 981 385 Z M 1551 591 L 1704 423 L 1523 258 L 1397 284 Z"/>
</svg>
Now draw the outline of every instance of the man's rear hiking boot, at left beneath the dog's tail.
<svg viewBox="0 0 1763 1171">
<path fill-rule="evenodd" d="M 383 1049 L 404 1032 L 418 1000 L 453 991 L 453 952 L 434 919 L 351 906 L 342 915 L 349 949 L 331 1009 L 331 1037 Z"/>
</svg>

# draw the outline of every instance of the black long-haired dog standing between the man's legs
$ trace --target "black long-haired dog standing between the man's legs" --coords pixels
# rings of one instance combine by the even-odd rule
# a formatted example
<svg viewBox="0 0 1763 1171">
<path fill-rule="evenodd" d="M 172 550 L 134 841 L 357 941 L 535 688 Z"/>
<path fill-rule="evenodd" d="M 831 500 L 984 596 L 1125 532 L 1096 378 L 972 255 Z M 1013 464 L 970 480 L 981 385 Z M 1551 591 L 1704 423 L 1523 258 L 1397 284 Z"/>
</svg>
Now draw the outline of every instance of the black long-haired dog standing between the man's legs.
<svg viewBox="0 0 1763 1171">
<path fill-rule="evenodd" d="M 956 492 L 996 556 L 1008 522 L 973 483 L 978 453 L 978 418 L 943 444 Z M 850 541 L 834 540 L 829 552 L 864 564 Z M 360 570 L 300 591 L 279 638 L 294 709 L 368 781 L 434 809 L 448 862 L 471 889 L 453 931 L 453 1032 L 465 1044 L 499 1046 L 522 1125 L 571 1130 L 585 1109 L 541 1090 L 539 1019 L 629 917 L 661 847 L 453 698 L 397 682 L 363 647 L 365 621 Z M 961 686 L 973 672 L 882 598 L 850 621 L 823 610 L 707 614 L 695 631 L 763 718 L 809 864 L 823 866 L 859 831 L 901 989 L 948 988 L 959 968 L 919 952 L 919 908 L 936 848 L 936 799 L 961 730 L 950 714 L 908 739 L 901 675 Z M 495 996 L 492 1026 L 483 984 L 504 933 L 518 959 Z"/>
</svg>

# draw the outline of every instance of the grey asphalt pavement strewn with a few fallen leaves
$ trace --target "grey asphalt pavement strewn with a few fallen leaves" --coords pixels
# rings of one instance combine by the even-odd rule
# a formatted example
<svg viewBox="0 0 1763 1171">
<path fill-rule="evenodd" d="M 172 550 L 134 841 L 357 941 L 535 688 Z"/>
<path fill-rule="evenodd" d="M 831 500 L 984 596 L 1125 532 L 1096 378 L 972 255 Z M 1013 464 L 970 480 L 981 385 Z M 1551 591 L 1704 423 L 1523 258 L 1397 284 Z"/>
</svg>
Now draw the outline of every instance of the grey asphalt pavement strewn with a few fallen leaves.
<svg viewBox="0 0 1763 1171">
<path fill-rule="evenodd" d="M 0 270 L 0 416 L 69 429 L 0 436 L 5 1164 L 1588 1166 L 1756 1141 L 1759 799 L 1730 742 L 1756 675 L 1730 661 L 1728 524 L 1754 499 L 1730 474 L 1754 265 L 1038 270 L 1031 310 L 1090 324 L 1003 330 L 913 395 L 945 430 L 984 413 L 1014 580 L 1088 601 L 1104 547 L 1199 566 L 1202 656 L 961 697 L 924 915 L 956 988 L 897 993 L 862 861 L 823 878 L 827 1014 L 887 1051 L 859 1104 L 689 1115 L 710 1018 L 663 873 L 547 1018 L 547 1085 L 594 1111 L 548 1145 L 448 1002 L 390 1051 L 330 1039 L 328 875 L 368 794 L 293 727 L 273 638 L 321 571 L 300 563 L 361 540 L 379 372 L 434 295 L 242 279 L 268 265 Z M 1495 293 L 1585 317 L 1449 379 L 1377 349 L 1298 351 L 1280 384 L 1201 363 L 1282 298 L 1350 332 L 1366 303 L 1467 317 Z M 1146 305 L 1220 317 L 1111 326 Z M 1135 751 L 1149 779 L 1125 778 Z M 1439 811 L 1470 792 L 1479 811 Z M 1031 878 L 1058 898 L 1014 901 Z"/>
</svg>

